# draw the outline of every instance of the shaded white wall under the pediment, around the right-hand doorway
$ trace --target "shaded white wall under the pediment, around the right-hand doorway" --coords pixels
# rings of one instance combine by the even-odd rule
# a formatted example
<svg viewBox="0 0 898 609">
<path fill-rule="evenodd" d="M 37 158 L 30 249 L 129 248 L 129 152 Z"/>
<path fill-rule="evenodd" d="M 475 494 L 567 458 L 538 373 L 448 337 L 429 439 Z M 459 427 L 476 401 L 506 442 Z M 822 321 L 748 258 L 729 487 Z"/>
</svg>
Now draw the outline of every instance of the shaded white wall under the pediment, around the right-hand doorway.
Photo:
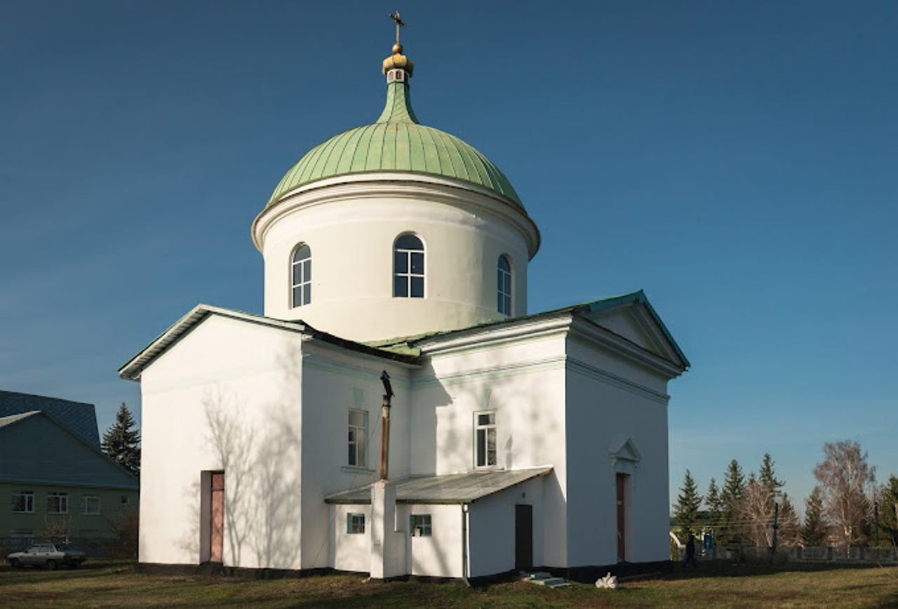
<svg viewBox="0 0 898 609">
<path fill-rule="evenodd" d="M 666 560 L 666 380 L 576 340 L 568 341 L 568 356 L 569 565 L 617 561 L 617 487 L 612 451 L 628 439 L 641 458 L 635 468 L 621 469 L 632 472 L 626 560 Z M 613 376 L 603 372 L 613 372 Z"/>
</svg>

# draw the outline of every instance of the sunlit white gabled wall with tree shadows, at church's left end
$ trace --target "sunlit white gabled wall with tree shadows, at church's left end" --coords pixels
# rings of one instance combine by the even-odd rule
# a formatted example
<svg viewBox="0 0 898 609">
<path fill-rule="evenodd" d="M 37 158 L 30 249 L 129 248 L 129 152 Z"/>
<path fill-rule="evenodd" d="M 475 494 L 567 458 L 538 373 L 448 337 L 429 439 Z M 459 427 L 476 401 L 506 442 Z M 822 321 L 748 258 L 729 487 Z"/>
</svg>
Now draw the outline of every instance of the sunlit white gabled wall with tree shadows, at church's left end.
<svg viewBox="0 0 898 609">
<path fill-rule="evenodd" d="M 141 375 L 140 560 L 198 564 L 201 472 L 225 471 L 224 562 L 300 567 L 300 335 L 212 315 Z"/>
</svg>

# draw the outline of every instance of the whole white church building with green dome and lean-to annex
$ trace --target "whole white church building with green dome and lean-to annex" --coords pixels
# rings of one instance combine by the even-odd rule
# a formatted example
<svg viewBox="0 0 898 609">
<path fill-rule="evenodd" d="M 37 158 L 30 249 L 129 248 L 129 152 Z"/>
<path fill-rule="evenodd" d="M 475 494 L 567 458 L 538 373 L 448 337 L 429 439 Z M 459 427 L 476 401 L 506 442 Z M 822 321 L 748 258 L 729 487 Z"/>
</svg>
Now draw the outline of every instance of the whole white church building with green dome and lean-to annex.
<svg viewBox="0 0 898 609">
<path fill-rule="evenodd" d="M 141 563 L 667 560 L 667 383 L 689 362 L 641 291 L 528 313 L 539 230 L 496 165 L 418 122 L 412 73 L 397 43 L 380 118 L 256 217 L 265 314 L 199 304 L 120 368 L 142 393 Z"/>
</svg>

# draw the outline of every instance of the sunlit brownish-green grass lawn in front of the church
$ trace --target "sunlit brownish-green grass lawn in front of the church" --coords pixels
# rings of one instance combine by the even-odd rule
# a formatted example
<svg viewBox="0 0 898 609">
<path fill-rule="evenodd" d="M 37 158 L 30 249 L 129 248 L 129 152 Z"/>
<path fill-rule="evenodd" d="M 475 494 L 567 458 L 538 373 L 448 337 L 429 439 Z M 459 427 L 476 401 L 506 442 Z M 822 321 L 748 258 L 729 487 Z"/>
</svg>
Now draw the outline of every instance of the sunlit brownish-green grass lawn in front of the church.
<svg viewBox="0 0 898 609">
<path fill-rule="evenodd" d="M 796 569 L 796 570 L 793 570 Z M 800 569 L 800 570 L 799 570 Z M 0 568 L 0 605 L 28 607 L 898 607 L 898 567 L 805 569 L 702 563 L 618 590 L 524 582 L 365 583 L 359 576 L 254 580 L 136 573 L 133 562 L 81 569 Z"/>
</svg>

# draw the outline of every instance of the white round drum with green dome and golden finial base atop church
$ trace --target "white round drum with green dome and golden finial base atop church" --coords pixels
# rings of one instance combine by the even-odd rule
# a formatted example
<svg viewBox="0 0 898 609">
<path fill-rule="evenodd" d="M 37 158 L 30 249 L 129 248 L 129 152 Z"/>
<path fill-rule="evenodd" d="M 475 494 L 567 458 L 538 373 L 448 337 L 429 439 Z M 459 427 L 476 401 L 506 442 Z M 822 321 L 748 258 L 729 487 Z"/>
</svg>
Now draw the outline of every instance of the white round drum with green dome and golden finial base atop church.
<svg viewBox="0 0 898 609">
<path fill-rule="evenodd" d="M 305 154 L 253 222 L 266 316 L 371 341 L 526 314 L 539 230 L 486 156 L 418 123 L 413 68 L 387 57 L 380 118 Z"/>
</svg>

